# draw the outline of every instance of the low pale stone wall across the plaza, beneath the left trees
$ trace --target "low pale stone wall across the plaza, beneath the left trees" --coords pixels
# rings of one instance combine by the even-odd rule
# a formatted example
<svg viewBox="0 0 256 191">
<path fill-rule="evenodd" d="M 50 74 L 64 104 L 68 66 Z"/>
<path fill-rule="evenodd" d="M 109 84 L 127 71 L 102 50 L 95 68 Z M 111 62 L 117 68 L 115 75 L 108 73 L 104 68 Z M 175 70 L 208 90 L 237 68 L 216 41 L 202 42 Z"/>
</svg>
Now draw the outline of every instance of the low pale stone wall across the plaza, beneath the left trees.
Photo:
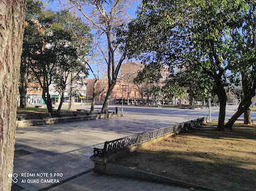
<svg viewBox="0 0 256 191">
<path fill-rule="evenodd" d="M 122 116 L 119 114 L 100 114 L 100 115 L 80 115 L 80 116 L 63 116 L 43 119 L 30 119 L 30 120 L 16 120 L 17 127 L 36 126 L 36 125 L 50 125 L 55 123 L 65 123 L 71 121 L 84 121 L 84 120 L 99 120 L 104 118 L 112 118 Z"/>
</svg>

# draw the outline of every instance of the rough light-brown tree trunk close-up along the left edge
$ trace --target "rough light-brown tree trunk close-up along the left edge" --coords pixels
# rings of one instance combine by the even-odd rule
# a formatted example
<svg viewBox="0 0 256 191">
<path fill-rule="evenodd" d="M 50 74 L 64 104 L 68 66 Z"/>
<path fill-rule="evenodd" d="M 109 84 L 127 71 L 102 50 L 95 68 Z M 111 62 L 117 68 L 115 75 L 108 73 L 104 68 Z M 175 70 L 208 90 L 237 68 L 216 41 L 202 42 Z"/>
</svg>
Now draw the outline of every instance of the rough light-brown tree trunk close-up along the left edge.
<svg viewBox="0 0 256 191">
<path fill-rule="evenodd" d="M 0 1 L 0 190 L 11 190 L 26 1 Z"/>
</svg>

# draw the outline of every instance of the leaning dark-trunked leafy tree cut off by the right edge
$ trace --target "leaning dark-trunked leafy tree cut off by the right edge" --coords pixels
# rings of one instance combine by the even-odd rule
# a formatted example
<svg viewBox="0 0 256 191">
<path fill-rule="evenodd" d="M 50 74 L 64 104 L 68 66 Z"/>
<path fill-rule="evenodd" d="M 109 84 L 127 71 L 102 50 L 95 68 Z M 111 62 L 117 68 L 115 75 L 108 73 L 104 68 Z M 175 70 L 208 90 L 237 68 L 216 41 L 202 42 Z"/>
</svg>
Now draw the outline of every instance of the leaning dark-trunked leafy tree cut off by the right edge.
<svg viewBox="0 0 256 191">
<path fill-rule="evenodd" d="M 232 125 L 252 104 L 256 91 L 256 3 L 245 1 L 239 15 L 234 18 L 236 28 L 231 31 L 232 50 L 236 53 L 230 58 L 232 72 L 237 84 L 242 85 L 242 100 L 237 112 L 230 118 L 226 128 L 232 130 Z"/>
</svg>

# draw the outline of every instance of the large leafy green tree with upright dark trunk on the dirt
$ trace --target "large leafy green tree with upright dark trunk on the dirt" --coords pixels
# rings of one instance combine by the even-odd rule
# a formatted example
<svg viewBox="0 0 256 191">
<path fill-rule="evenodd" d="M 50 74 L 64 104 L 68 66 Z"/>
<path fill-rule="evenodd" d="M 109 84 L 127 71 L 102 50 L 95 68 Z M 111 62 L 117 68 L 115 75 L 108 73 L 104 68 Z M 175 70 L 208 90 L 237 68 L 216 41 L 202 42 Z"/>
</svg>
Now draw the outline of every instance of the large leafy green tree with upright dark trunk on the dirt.
<svg viewBox="0 0 256 191">
<path fill-rule="evenodd" d="M 234 14 L 240 1 L 144 1 L 129 26 L 129 55 L 148 62 L 181 66 L 213 80 L 220 100 L 217 130 L 225 130 L 228 56 Z M 143 56 L 143 57 L 142 57 Z M 174 70 L 173 70 L 174 72 Z"/>
</svg>

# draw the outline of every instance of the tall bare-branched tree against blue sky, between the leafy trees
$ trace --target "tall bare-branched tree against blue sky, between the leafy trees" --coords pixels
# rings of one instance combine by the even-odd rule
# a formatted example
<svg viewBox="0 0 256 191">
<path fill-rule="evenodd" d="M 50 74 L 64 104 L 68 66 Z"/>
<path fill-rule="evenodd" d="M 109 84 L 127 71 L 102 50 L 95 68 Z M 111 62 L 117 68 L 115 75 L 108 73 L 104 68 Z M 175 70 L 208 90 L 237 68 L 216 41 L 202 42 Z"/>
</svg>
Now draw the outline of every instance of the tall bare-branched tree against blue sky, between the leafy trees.
<svg viewBox="0 0 256 191">
<path fill-rule="evenodd" d="M 70 0 L 69 2 L 80 11 L 82 16 L 87 19 L 88 23 L 90 23 L 94 29 L 97 29 L 99 34 L 104 34 L 101 35 L 100 38 L 102 46 L 107 47 L 105 58 L 109 80 L 107 94 L 102 106 L 102 113 L 105 113 L 109 108 L 112 90 L 117 83 L 120 66 L 126 56 L 126 48 L 123 48 L 122 52 L 120 51 L 120 43 L 115 41 L 115 34 L 117 29 L 123 28 L 127 21 L 129 21 L 129 16 L 127 16 L 125 8 L 130 6 L 132 1 Z"/>
</svg>

